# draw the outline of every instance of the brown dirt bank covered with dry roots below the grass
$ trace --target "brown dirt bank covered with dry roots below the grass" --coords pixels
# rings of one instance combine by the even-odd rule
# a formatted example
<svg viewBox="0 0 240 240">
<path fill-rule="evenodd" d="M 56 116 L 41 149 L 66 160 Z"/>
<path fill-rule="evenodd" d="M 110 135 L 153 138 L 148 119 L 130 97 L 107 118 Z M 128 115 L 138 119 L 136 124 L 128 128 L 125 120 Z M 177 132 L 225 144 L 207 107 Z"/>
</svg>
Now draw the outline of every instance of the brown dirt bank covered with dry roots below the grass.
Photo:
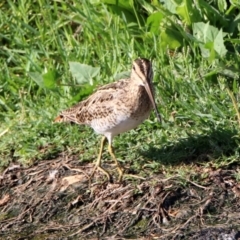
<svg viewBox="0 0 240 240">
<path fill-rule="evenodd" d="M 240 239 L 234 167 L 200 169 L 201 185 L 163 174 L 119 184 L 97 172 L 89 181 L 92 169 L 64 153 L 9 166 L 0 174 L 0 239 Z"/>
</svg>

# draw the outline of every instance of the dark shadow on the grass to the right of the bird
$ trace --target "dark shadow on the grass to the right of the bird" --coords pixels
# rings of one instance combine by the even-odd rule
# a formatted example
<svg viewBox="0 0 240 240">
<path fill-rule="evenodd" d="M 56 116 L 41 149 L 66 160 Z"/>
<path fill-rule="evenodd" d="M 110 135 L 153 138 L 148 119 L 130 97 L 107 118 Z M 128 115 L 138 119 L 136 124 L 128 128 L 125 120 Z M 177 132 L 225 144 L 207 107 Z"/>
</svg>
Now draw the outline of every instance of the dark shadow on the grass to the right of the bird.
<svg viewBox="0 0 240 240">
<path fill-rule="evenodd" d="M 203 162 L 220 157 L 230 157 L 240 152 L 240 143 L 236 130 L 216 129 L 205 135 L 189 135 L 170 145 L 160 148 L 150 146 L 141 154 L 164 165 Z M 239 159 L 236 159 L 239 161 Z M 231 162 L 232 163 L 232 162 Z"/>
</svg>

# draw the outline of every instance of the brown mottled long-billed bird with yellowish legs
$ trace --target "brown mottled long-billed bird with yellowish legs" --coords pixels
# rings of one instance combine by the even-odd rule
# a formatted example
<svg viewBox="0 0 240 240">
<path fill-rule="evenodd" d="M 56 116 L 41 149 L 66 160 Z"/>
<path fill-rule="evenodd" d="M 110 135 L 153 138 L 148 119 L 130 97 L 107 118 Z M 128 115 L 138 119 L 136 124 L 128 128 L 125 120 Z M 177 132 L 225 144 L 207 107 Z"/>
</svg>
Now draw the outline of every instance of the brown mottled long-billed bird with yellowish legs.
<svg viewBox="0 0 240 240">
<path fill-rule="evenodd" d="M 116 164 L 121 182 L 124 169 L 115 156 L 112 142 L 120 133 L 136 128 L 147 119 L 154 109 L 156 117 L 161 122 L 153 89 L 152 63 L 146 58 L 133 61 L 129 78 L 99 87 L 92 95 L 73 107 L 63 110 L 54 122 L 70 122 L 90 126 L 97 134 L 101 134 L 101 144 L 95 167 L 102 171 L 109 181 L 110 173 L 102 167 L 102 153 L 108 141 L 108 152 Z"/>
</svg>

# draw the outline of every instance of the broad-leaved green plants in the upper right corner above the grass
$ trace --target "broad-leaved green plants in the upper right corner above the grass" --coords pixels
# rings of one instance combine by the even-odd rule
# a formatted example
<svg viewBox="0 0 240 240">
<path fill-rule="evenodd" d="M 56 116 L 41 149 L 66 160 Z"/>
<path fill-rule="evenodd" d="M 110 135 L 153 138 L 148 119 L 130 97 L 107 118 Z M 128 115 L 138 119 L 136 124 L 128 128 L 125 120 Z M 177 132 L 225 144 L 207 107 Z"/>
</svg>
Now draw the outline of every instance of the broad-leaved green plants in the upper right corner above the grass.
<svg viewBox="0 0 240 240">
<path fill-rule="evenodd" d="M 159 46 L 163 49 L 177 49 L 189 45 L 193 51 L 200 48 L 202 57 L 210 62 L 221 59 L 231 49 L 230 36 L 239 34 L 240 14 L 238 3 L 216 1 L 153 1 L 149 4 L 141 1 L 104 1 L 95 3 L 106 4 L 109 9 L 117 9 L 117 15 L 127 23 L 135 22 L 140 28 L 141 20 L 149 27 L 149 32 L 158 36 Z M 112 11 L 116 14 L 116 11 Z M 129 18 L 131 14 L 131 18 Z M 135 17 L 135 21 L 134 21 Z M 228 41 L 229 39 L 229 41 Z M 228 42 L 228 45 L 225 42 Z"/>
</svg>

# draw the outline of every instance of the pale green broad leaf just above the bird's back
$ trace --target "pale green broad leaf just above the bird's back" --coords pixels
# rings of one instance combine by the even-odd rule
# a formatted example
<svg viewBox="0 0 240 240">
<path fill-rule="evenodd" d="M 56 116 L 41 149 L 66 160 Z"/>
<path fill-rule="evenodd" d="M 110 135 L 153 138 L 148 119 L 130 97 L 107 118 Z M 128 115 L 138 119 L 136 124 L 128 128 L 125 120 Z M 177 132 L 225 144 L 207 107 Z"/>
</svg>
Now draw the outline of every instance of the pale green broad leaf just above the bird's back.
<svg viewBox="0 0 240 240">
<path fill-rule="evenodd" d="M 98 75 L 100 68 L 92 67 L 79 62 L 69 62 L 70 72 L 78 84 L 89 82 L 93 85 L 93 78 Z"/>
</svg>

